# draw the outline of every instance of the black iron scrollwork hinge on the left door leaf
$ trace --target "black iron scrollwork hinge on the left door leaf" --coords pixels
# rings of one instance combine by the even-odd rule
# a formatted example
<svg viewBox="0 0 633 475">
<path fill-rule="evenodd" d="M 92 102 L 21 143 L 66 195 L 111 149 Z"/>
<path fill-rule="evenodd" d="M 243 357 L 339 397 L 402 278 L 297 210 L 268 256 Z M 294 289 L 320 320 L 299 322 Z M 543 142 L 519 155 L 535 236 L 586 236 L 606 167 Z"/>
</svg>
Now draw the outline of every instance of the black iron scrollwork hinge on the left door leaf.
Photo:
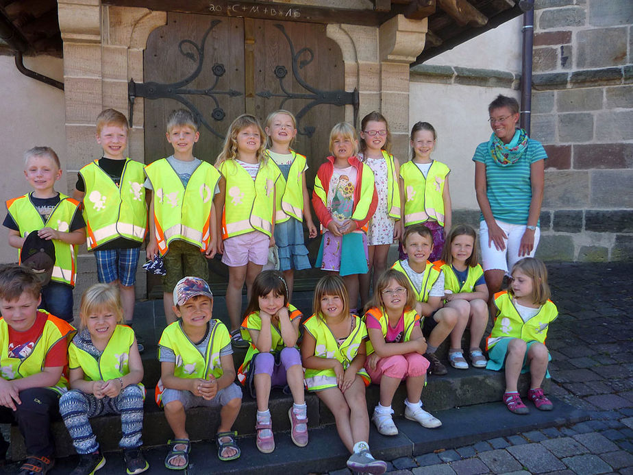
<svg viewBox="0 0 633 475">
<path fill-rule="evenodd" d="M 212 84 L 211 87 L 206 89 L 191 89 L 185 87 L 193 82 L 200 75 L 200 72 L 202 71 L 202 64 L 204 62 L 204 47 L 207 37 L 209 36 L 211 30 L 219 23 L 221 23 L 219 20 L 214 20 L 211 22 L 210 27 L 207 29 L 202 37 L 201 45 L 197 45 L 197 43 L 193 42 L 193 40 L 182 40 L 181 42 L 179 42 L 178 50 L 180 51 L 180 53 L 186 58 L 189 58 L 194 62 L 198 62 L 195 71 L 188 75 L 188 77 L 185 77 L 183 80 L 173 82 L 171 84 L 158 84 L 157 82 L 138 83 L 134 82 L 134 79 L 129 81 L 129 83 L 127 84 L 127 99 L 129 101 L 129 123 L 133 123 L 132 114 L 134 113 L 134 99 L 136 97 L 144 97 L 145 99 L 174 99 L 175 101 L 178 101 L 186 106 L 195 115 L 199 123 L 201 123 L 212 134 L 219 138 L 224 138 L 222 134 L 216 132 L 216 130 L 203 117 L 196 106 L 194 106 L 193 103 L 191 103 L 186 98 L 186 96 L 190 95 L 204 95 L 210 97 L 215 103 L 215 107 L 211 112 L 212 119 L 218 122 L 223 121 L 226 113 L 224 109 L 220 107 L 216 96 L 227 95 L 229 97 L 236 97 L 243 95 L 243 93 L 240 93 L 240 91 L 233 89 L 215 90 L 220 77 L 222 77 L 226 72 L 224 64 L 216 63 L 212 66 L 211 71 L 215 77 L 215 82 L 214 84 Z M 185 45 L 190 45 L 191 47 L 193 47 L 194 52 L 185 51 Z"/>
</svg>

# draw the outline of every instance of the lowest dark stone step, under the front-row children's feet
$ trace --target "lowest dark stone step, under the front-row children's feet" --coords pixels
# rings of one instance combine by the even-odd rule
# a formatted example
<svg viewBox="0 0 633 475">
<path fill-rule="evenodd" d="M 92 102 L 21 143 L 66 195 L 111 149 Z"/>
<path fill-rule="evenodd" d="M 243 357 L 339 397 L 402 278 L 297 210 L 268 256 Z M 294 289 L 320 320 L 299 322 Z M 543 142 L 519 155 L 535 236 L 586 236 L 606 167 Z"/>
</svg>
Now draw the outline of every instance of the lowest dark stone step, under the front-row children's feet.
<svg viewBox="0 0 633 475">
<path fill-rule="evenodd" d="M 417 456 L 434 450 L 449 450 L 471 443 L 504 437 L 528 430 L 538 430 L 564 424 L 575 424 L 587 420 L 584 411 L 551 398 L 554 410 L 536 411 L 533 407 L 528 415 L 515 415 L 501 402 L 478 404 L 460 409 L 438 411 L 436 416 L 443 422 L 442 427 L 426 429 L 402 417 L 395 417 L 399 434 L 385 437 L 370 427 L 369 444 L 378 459 L 393 460 L 402 456 Z M 195 437 L 192 437 L 194 440 Z M 310 443 L 306 448 L 297 448 L 290 440 L 288 432 L 275 430 L 275 451 L 271 454 L 258 452 L 255 437 L 240 437 L 238 444 L 242 451 L 240 459 L 221 462 L 216 457 L 216 446 L 209 441 L 210 435 L 202 441 L 192 443 L 188 474 L 240 474 L 278 475 L 308 474 L 328 472 L 345 467 L 349 454 L 336 434 L 333 424 L 310 428 Z M 147 444 L 146 444 L 147 446 Z M 150 464 L 152 474 L 173 474 L 164 467 L 167 449 L 165 446 L 147 447 L 143 451 Z M 107 463 L 102 470 L 107 473 L 123 473 L 125 466 L 121 452 L 106 453 Z M 67 474 L 75 467 L 76 456 L 58 459 L 49 474 Z M 16 472 L 16 463 L 0 469 L 0 474 Z M 101 473 L 101 472 L 99 472 Z M 149 472 L 148 472 L 149 473 Z M 184 473 L 184 472 L 183 472 Z"/>
</svg>

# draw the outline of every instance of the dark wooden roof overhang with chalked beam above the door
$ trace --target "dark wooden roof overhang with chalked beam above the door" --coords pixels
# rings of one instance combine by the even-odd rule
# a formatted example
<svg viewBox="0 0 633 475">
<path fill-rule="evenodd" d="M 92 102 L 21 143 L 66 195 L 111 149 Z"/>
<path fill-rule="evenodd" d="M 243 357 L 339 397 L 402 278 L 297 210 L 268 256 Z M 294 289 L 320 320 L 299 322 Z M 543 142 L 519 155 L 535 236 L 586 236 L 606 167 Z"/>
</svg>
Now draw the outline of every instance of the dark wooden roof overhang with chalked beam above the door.
<svg viewBox="0 0 633 475">
<path fill-rule="evenodd" d="M 532 0 L 372 0 L 373 9 L 316 7 L 292 1 L 101 0 L 104 5 L 308 23 L 380 26 L 397 14 L 428 18 L 424 51 L 413 64 L 460 45 L 532 8 Z M 340 3 L 345 5 L 345 1 Z M 0 53 L 62 56 L 57 0 L 0 0 Z"/>
</svg>

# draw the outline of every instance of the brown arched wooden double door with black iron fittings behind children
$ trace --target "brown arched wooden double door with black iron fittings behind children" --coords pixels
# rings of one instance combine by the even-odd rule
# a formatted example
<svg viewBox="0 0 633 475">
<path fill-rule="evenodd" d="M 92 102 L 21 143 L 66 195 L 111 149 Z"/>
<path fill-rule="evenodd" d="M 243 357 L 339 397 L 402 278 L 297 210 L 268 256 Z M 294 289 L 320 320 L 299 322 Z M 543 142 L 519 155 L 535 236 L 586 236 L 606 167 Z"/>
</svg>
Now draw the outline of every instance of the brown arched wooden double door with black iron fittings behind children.
<svg viewBox="0 0 633 475">
<path fill-rule="evenodd" d="M 144 56 L 145 161 L 173 153 L 166 117 L 188 108 L 201 122 L 194 154 L 214 163 L 230 123 L 243 113 L 262 121 L 274 110 L 299 119 L 293 145 L 308 157 L 306 179 L 328 155 L 330 130 L 345 119 L 343 57 L 325 25 L 169 13 L 147 40 Z M 307 237 L 307 236 L 306 236 Z M 312 260 L 317 242 L 308 243 Z M 211 280 L 226 282 L 212 260 Z M 297 276 L 301 287 L 301 273 Z M 149 282 L 149 291 L 156 282 Z"/>
</svg>

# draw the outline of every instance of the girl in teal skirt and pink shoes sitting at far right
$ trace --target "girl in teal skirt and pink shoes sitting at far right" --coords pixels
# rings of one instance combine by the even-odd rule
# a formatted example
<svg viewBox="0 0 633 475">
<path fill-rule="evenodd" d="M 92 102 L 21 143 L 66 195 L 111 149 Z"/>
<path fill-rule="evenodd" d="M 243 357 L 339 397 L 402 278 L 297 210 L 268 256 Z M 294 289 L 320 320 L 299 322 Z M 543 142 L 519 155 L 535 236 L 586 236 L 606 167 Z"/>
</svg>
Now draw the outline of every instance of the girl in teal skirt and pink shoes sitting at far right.
<svg viewBox="0 0 633 475">
<path fill-rule="evenodd" d="M 517 389 L 519 375 L 530 372 L 528 399 L 536 409 L 551 411 L 552 404 L 543 394 L 543 378 L 549 378 L 547 364 L 551 356 L 545 346 L 549 324 L 558 317 L 556 305 L 549 300 L 545 264 L 533 257 L 519 260 L 512 267 L 509 291 L 495 294 L 497 316 L 488 337 L 486 369 L 506 369 L 504 402 L 515 414 L 530 412 Z"/>
</svg>

